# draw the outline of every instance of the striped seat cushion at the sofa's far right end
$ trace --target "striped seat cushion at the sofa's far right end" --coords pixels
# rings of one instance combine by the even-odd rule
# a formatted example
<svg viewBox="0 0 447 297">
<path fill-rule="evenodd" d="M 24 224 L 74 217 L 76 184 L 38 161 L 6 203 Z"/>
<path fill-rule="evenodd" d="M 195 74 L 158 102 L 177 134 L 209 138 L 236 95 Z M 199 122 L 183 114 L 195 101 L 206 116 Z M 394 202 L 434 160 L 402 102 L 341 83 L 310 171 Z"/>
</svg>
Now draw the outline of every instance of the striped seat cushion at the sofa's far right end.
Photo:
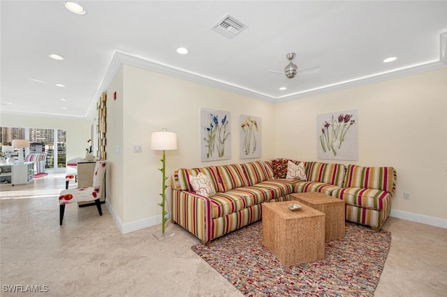
<svg viewBox="0 0 447 297">
<path fill-rule="evenodd" d="M 332 191 L 332 197 L 342 199 L 346 205 L 379 210 L 388 209 L 391 199 L 386 191 L 367 188 L 341 188 Z"/>
</svg>

